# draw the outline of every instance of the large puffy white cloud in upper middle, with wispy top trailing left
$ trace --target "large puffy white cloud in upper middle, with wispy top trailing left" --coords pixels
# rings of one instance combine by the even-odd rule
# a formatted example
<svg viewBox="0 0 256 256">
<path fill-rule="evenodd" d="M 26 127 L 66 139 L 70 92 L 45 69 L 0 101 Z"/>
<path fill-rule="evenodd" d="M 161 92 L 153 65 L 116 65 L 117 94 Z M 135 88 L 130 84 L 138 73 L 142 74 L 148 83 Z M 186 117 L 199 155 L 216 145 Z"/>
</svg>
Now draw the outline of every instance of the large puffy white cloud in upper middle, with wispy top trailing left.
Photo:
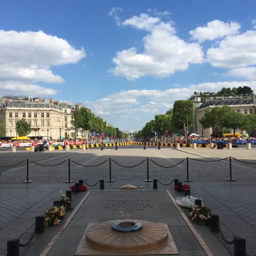
<svg viewBox="0 0 256 256">
<path fill-rule="evenodd" d="M 175 35 L 171 23 L 160 22 L 147 14 L 125 20 L 124 25 L 150 31 L 143 38 L 144 52 L 132 47 L 122 50 L 113 58 L 116 67 L 111 72 L 134 80 L 145 75 L 167 77 L 175 71 L 186 70 L 189 63 L 203 63 L 203 52 L 198 43 L 188 43 Z"/>
</svg>

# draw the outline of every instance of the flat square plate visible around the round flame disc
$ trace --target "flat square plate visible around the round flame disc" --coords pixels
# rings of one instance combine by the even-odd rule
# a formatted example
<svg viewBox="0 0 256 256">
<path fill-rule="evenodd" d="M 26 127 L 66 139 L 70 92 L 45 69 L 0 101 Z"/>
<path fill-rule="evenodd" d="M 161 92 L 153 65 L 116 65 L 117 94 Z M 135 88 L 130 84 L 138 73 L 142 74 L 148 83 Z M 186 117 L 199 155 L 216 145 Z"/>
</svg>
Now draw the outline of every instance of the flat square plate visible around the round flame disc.
<svg viewBox="0 0 256 256">
<path fill-rule="evenodd" d="M 125 252 L 125 251 L 105 251 L 100 250 L 95 247 L 93 247 L 86 239 L 88 230 L 95 224 L 98 223 L 89 223 L 86 231 L 83 233 L 83 236 L 79 242 L 79 245 L 75 251 L 75 256 L 80 255 L 131 255 L 131 252 Z M 166 242 L 163 245 L 158 246 L 157 248 L 151 249 L 151 250 L 143 250 L 143 251 L 137 251 L 136 254 L 132 253 L 133 255 L 169 255 L 169 254 L 179 254 L 178 249 L 175 245 L 175 242 L 173 240 L 172 234 L 170 233 L 168 226 L 166 223 L 157 223 L 158 225 L 161 225 L 168 233 L 168 237 L 166 239 Z M 131 236 L 131 234 L 129 234 Z M 100 236 L 100 235 L 99 235 Z"/>
</svg>

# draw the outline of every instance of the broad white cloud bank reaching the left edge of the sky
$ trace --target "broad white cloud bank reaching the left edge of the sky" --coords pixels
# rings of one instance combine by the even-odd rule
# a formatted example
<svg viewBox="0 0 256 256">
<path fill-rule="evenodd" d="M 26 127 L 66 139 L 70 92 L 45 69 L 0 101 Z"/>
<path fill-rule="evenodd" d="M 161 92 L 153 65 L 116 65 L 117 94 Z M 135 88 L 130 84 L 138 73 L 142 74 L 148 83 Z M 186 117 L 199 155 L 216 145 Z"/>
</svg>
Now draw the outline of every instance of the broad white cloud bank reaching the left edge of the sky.
<svg viewBox="0 0 256 256">
<path fill-rule="evenodd" d="M 0 80 L 59 83 L 51 66 L 77 63 L 86 56 L 65 39 L 43 31 L 17 32 L 0 30 Z"/>
</svg>

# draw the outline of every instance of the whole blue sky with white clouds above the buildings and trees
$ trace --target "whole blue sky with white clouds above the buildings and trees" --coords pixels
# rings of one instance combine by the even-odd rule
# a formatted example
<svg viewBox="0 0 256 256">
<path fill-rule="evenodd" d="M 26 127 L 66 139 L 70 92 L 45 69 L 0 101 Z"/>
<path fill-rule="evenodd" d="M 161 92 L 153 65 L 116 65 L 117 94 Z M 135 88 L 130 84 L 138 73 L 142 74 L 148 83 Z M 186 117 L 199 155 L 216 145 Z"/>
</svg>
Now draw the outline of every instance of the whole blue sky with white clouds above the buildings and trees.
<svg viewBox="0 0 256 256">
<path fill-rule="evenodd" d="M 175 100 L 256 92 L 255 0 L 1 0 L 0 97 L 82 103 L 139 131 Z"/>
</svg>

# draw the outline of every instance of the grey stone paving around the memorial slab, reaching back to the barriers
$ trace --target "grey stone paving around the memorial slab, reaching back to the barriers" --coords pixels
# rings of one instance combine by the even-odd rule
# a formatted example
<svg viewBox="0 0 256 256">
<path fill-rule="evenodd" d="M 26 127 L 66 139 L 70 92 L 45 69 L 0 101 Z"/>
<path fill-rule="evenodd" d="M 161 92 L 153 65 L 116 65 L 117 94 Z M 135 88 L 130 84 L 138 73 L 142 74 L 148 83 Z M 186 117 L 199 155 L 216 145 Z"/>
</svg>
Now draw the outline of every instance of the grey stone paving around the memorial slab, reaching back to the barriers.
<svg viewBox="0 0 256 256">
<path fill-rule="evenodd" d="M 181 148 L 180 151 L 172 148 L 157 150 L 157 147 L 124 146 L 118 151 L 114 148 L 90 149 L 86 152 L 71 150 L 70 152 L 24 152 L 10 153 L 0 152 L 0 165 L 6 166 L 13 163 L 31 159 L 33 162 L 53 165 L 67 161 L 54 167 L 45 167 L 29 162 L 29 179 L 32 183 L 24 184 L 26 180 L 26 162 L 11 168 L 0 167 L 0 254 L 6 254 L 7 241 L 21 236 L 29 230 L 34 223 L 34 217 L 44 213 L 53 203 L 58 200 L 61 193 L 69 189 L 70 184 L 65 183 L 68 179 L 68 159 L 74 162 L 91 166 L 108 160 L 95 167 L 83 167 L 71 161 L 71 180 L 83 179 L 89 184 L 99 179 L 109 180 L 109 159 L 115 160 L 123 166 L 133 166 L 145 160 L 147 157 L 162 166 L 173 166 L 181 160 L 188 158 L 198 160 L 224 159 L 233 157 L 242 161 L 255 163 L 256 148 L 246 150 L 245 148 L 232 148 L 232 150 L 210 150 L 209 148 Z M 232 178 L 236 181 L 227 181 L 229 178 L 229 159 L 218 162 L 199 162 L 189 159 L 189 179 L 193 182 L 191 193 L 202 198 L 202 201 L 212 211 L 220 216 L 220 225 L 223 233 L 232 240 L 233 236 L 246 238 L 247 255 L 256 255 L 256 164 L 238 162 L 232 159 Z M 163 168 L 149 160 L 150 179 L 158 179 L 167 184 L 175 178 L 180 181 L 186 180 L 186 159 L 173 168 Z M 123 184 L 134 184 L 144 186 L 145 189 L 152 188 L 152 182 L 144 182 L 147 179 L 146 161 L 133 168 L 122 167 L 112 161 L 112 180 L 105 182 L 105 188 L 121 186 Z M 159 188 L 167 188 L 174 193 L 173 184 L 163 186 L 158 183 Z M 89 187 L 90 189 L 99 188 Z M 74 202 L 78 202 L 80 194 L 74 195 Z M 186 212 L 186 210 L 184 210 Z M 188 214 L 188 212 L 186 212 Z M 201 227 L 195 225 L 200 230 Z M 56 232 L 53 227 L 48 232 Z M 204 230 L 205 231 L 205 230 Z M 44 235 L 42 236 L 44 237 Z M 48 236 L 48 239 L 51 236 Z M 223 241 L 218 234 L 216 237 Z M 38 238 L 39 239 L 39 238 Z M 37 238 L 35 239 L 35 241 Z M 47 240 L 47 239 L 46 239 Z M 33 246 L 32 242 L 32 246 Z M 45 242 L 47 244 L 47 242 Z M 44 243 L 42 243 L 44 244 Z M 226 245 L 225 245 L 226 246 Z M 226 246 L 230 253 L 233 246 Z M 27 250 L 21 252 L 29 255 Z M 21 255 L 22 255 L 21 254 Z M 39 255 L 39 254 L 38 254 Z"/>
</svg>

